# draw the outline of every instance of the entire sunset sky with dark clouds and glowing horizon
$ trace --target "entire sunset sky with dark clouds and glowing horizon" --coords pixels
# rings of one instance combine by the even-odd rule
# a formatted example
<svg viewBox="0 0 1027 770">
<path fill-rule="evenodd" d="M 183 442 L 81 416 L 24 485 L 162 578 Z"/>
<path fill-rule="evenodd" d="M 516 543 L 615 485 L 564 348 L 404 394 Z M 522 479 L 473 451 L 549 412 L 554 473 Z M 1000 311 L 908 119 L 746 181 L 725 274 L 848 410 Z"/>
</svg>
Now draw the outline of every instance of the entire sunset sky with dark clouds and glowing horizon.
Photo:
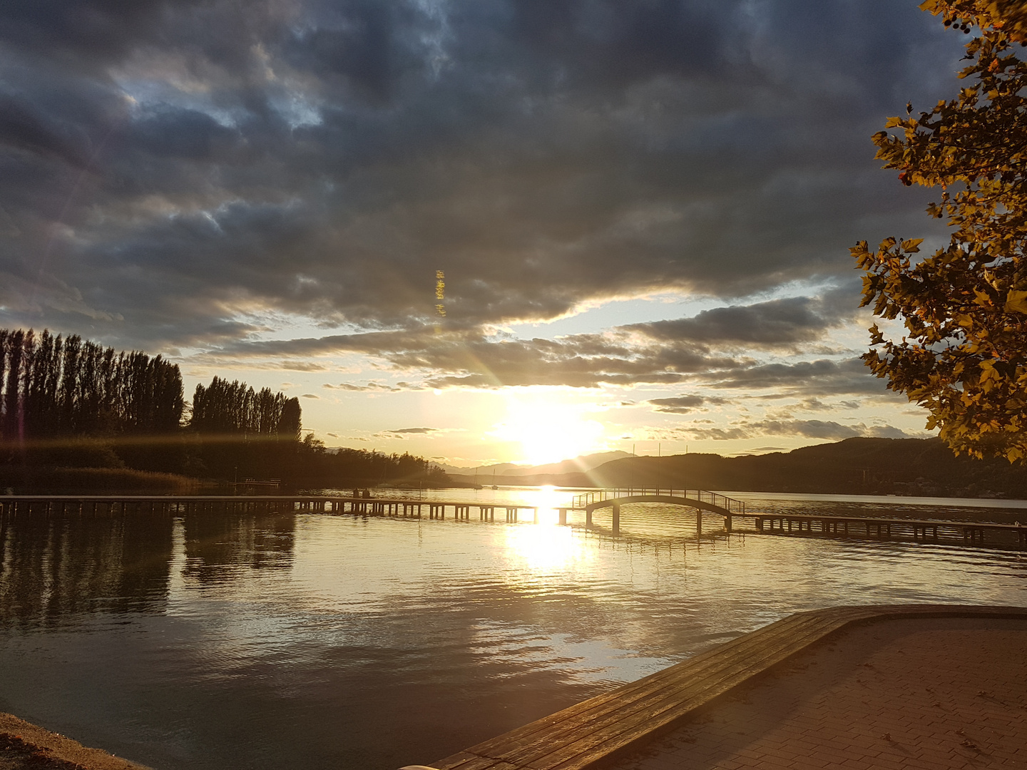
<svg viewBox="0 0 1027 770">
<path fill-rule="evenodd" d="M 0 325 L 455 465 L 926 436 L 848 247 L 945 238 L 870 137 L 966 40 L 916 0 L 5 0 Z"/>
</svg>

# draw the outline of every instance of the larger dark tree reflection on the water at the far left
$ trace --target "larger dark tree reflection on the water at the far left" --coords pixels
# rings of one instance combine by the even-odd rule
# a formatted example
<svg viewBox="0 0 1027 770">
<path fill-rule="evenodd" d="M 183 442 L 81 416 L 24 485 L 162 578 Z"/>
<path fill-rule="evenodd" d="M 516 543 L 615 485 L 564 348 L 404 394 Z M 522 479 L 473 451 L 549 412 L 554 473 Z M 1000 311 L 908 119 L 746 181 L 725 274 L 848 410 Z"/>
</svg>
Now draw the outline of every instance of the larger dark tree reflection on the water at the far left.
<svg viewBox="0 0 1027 770">
<path fill-rule="evenodd" d="M 167 516 L 0 516 L 0 622 L 162 612 L 172 545 Z"/>
</svg>

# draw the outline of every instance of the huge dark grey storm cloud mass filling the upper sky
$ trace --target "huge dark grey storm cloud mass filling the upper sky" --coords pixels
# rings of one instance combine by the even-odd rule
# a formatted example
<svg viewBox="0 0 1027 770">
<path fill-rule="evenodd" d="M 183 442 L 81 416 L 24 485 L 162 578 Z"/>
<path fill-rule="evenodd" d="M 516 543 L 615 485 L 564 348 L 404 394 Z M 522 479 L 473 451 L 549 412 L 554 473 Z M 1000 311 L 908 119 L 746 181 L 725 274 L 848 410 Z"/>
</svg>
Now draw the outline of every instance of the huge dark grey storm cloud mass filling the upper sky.
<svg viewBox="0 0 1027 770">
<path fill-rule="evenodd" d="M 218 345 L 266 310 L 415 329 L 435 270 L 465 330 L 836 275 L 929 230 L 868 138 L 962 42 L 888 0 L 9 0 L 0 320 Z M 838 320 L 747 312 L 638 332 Z"/>
</svg>

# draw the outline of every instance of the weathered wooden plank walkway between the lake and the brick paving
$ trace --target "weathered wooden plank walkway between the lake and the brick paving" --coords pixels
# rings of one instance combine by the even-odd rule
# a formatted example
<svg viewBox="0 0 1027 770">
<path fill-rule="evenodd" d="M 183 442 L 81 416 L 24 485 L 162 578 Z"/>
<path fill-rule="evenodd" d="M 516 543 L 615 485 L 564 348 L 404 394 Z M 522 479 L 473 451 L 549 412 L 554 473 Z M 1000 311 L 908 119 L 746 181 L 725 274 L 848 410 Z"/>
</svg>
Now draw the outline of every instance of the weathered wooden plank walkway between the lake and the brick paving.
<svg viewBox="0 0 1027 770">
<path fill-rule="evenodd" d="M 715 699 L 843 628 L 931 617 L 1027 619 L 1027 608 L 960 605 L 835 607 L 791 615 L 662 671 L 487 740 L 438 770 L 585 770 L 680 725 Z"/>
</svg>

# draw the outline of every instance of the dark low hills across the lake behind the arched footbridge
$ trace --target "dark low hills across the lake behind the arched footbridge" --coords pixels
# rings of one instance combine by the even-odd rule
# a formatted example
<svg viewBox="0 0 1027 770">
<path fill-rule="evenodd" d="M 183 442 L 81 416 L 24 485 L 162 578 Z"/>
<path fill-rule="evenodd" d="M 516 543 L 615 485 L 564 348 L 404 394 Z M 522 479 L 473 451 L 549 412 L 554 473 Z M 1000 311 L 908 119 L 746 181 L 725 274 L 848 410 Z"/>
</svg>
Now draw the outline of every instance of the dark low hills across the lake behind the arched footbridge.
<svg viewBox="0 0 1027 770">
<path fill-rule="evenodd" d="M 767 455 L 629 455 L 586 471 L 497 471 L 496 484 L 1027 499 L 1027 467 L 957 458 L 940 438 L 860 437 Z"/>
</svg>

